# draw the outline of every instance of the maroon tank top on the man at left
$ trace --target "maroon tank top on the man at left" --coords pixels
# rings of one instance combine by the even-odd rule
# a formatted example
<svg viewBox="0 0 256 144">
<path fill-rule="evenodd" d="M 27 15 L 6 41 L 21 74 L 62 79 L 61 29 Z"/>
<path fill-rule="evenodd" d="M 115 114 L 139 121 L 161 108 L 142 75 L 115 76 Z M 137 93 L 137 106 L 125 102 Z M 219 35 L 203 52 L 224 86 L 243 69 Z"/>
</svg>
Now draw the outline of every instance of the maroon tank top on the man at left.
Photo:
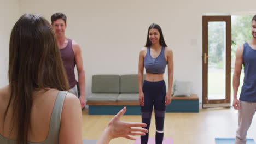
<svg viewBox="0 0 256 144">
<path fill-rule="evenodd" d="M 61 59 L 66 69 L 69 88 L 73 88 L 77 84 L 75 80 L 74 67 L 75 67 L 75 56 L 72 49 L 72 40 L 68 39 L 68 44 L 63 49 L 60 49 Z"/>
</svg>

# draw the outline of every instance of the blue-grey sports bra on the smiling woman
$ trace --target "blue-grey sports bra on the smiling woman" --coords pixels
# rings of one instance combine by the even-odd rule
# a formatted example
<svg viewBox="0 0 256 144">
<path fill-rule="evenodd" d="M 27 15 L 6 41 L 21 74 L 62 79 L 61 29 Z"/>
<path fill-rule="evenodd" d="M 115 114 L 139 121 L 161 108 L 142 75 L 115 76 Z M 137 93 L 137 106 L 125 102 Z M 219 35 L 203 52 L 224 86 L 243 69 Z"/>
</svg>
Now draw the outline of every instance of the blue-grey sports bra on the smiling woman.
<svg viewBox="0 0 256 144">
<path fill-rule="evenodd" d="M 158 57 L 153 58 L 150 55 L 150 47 L 147 48 L 146 56 L 144 57 L 144 67 L 146 73 L 164 74 L 167 61 L 165 59 L 165 47 L 162 46 L 162 50 Z"/>
</svg>

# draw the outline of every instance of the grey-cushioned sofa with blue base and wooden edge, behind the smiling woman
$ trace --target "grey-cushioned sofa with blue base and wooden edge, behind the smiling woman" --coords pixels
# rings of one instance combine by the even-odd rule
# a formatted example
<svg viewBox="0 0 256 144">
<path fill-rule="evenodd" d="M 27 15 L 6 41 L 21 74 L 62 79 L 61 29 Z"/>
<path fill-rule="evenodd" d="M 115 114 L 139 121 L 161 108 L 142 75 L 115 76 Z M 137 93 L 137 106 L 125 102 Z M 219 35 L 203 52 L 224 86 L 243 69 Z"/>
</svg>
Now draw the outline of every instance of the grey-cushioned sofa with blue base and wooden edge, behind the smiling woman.
<svg viewBox="0 0 256 144">
<path fill-rule="evenodd" d="M 137 74 L 94 75 L 91 89 L 92 94 L 87 98 L 89 115 L 115 115 L 124 106 L 125 115 L 141 115 Z M 166 112 L 199 112 L 199 98 L 172 97 Z"/>
</svg>

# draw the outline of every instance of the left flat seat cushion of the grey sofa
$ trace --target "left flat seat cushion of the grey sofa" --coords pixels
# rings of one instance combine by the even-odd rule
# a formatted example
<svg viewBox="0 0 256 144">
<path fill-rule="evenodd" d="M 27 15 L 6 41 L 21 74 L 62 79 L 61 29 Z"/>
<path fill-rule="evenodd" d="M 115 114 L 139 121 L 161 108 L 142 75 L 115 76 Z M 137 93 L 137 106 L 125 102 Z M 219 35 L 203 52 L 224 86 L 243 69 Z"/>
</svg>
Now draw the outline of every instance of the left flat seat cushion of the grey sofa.
<svg viewBox="0 0 256 144">
<path fill-rule="evenodd" d="M 92 93 L 87 101 L 117 101 L 118 93 Z"/>
</svg>

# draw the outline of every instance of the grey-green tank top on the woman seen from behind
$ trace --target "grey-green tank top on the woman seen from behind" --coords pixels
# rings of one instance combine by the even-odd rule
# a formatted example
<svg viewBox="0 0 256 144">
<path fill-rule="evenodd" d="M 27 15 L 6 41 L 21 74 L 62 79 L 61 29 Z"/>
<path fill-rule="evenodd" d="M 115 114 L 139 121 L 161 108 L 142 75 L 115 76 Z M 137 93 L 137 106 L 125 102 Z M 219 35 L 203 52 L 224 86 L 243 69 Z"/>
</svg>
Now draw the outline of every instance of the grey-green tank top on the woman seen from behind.
<svg viewBox="0 0 256 144">
<path fill-rule="evenodd" d="M 68 92 L 59 91 L 57 98 L 55 100 L 54 109 L 51 113 L 51 122 L 49 133 L 45 141 L 43 142 L 28 142 L 28 144 L 46 144 L 46 143 L 59 143 L 59 133 L 61 125 L 61 112 L 65 97 Z M 0 134 L 0 143 L 1 144 L 16 144 L 16 140 L 10 140 L 6 137 L 3 137 Z"/>
</svg>

